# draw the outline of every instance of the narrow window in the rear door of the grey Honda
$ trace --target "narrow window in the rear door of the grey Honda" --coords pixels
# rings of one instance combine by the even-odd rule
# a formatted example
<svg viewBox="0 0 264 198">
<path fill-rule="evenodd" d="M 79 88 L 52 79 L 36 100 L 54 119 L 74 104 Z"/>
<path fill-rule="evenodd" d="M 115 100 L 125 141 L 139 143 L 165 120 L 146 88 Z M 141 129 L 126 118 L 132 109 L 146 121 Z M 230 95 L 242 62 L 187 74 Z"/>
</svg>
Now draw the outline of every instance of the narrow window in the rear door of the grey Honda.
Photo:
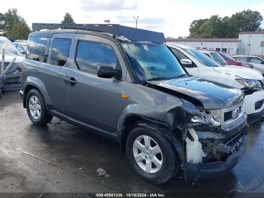
<svg viewBox="0 0 264 198">
<path fill-rule="evenodd" d="M 71 48 L 71 39 L 54 38 L 50 56 L 50 63 L 52 65 L 63 66 L 69 59 Z"/>
</svg>

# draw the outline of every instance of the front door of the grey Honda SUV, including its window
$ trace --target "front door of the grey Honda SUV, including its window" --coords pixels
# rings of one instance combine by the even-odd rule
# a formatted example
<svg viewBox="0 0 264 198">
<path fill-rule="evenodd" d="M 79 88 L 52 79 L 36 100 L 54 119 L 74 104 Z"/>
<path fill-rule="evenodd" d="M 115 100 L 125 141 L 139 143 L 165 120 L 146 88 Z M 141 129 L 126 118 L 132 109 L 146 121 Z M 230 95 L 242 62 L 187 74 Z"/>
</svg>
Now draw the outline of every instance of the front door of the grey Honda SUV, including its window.
<svg viewBox="0 0 264 198">
<path fill-rule="evenodd" d="M 75 83 L 67 85 L 68 110 L 71 117 L 114 132 L 120 116 L 122 80 L 97 76 L 98 66 L 118 65 L 113 47 L 116 44 L 105 38 L 77 34 L 67 79 Z M 89 41 L 87 39 L 91 39 Z M 109 43 L 102 44 L 102 43 Z M 70 81 L 72 82 L 72 81 Z"/>
</svg>

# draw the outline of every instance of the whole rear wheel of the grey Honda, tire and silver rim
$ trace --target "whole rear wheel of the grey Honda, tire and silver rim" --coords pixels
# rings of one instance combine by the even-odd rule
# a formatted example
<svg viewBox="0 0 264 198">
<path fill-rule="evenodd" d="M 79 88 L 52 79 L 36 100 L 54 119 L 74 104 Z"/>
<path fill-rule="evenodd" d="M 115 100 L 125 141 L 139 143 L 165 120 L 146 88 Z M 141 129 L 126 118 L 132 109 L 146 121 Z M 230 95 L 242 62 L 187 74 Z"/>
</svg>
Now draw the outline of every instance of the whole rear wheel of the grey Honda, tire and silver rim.
<svg viewBox="0 0 264 198">
<path fill-rule="evenodd" d="M 36 89 L 31 89 L 26 98 L 27 115 L 36 125 L 50 123 L 53 116 L 48 114 L 42 95 Z"/>
</svg>

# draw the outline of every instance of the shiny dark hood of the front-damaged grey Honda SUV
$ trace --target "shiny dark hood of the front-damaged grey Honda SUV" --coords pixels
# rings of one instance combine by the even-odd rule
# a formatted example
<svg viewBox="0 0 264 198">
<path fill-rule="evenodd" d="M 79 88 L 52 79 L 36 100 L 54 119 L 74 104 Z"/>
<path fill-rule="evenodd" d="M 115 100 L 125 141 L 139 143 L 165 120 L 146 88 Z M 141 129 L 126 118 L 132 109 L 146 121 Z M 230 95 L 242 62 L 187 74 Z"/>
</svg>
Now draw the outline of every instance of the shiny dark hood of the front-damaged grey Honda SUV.
<svg viewBox="0 0 264 198">
<path fill-rule="evenodd" d="M 242 102 L 244 96 L 240 89 L 199 77 L 186 77 L 162 81 L 149 81 L 159 87 L 173 90 L 173 95 L 181 94 L 197 99 L 204 109 L 222 109 Z M 166 89 L 160 89 L 166 92 Z M 186 99 L 187 100 L 187 99 Z"/>
</svg>

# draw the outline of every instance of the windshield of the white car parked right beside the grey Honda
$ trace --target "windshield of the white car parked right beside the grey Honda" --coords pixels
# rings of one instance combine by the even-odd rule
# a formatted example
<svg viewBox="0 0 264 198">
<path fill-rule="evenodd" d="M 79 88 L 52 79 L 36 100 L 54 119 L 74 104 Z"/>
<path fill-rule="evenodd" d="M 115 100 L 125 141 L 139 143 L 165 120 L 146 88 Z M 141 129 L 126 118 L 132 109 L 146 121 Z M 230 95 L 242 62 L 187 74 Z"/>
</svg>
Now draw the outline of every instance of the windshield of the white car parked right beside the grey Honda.
<svg viewBox="0 0 264 198">
<path fill-rule="evenodd" d="M 202 52 L 199 52 L 196 49 L 190 48 L 190 49 L 183 49 L 183 50 L 205 66 L 221 67 L 221 65 L 215 62 L 212 58 L 209 58 L 207 55 L 203 54 Z"/>
</svg>

